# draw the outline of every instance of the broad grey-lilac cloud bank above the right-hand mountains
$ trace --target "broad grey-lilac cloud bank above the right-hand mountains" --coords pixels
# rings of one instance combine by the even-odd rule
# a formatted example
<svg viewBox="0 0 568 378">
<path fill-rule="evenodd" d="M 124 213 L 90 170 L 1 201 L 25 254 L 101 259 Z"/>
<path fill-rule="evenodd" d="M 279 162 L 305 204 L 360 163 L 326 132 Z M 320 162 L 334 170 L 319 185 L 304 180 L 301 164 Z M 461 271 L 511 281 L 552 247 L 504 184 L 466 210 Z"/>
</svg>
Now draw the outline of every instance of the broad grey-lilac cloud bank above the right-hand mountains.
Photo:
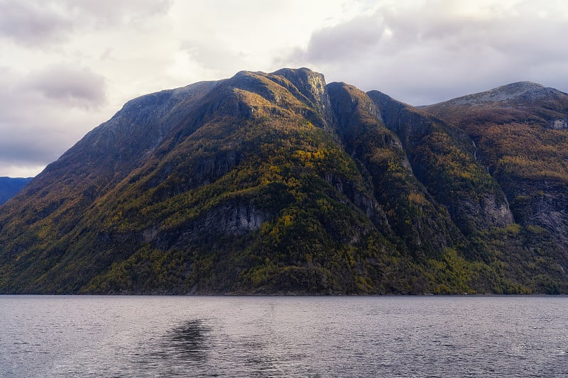
<svg viewBox="0 0 568 378">
<path fill-rule="evenodd" d="M 415 105 L 520 80 L 568 89 L 564 2 L 503 2 L 474 13 L 460 12 L 460 1 L 400 4 L 318 30 L 280 61 Z"/>
</svg>

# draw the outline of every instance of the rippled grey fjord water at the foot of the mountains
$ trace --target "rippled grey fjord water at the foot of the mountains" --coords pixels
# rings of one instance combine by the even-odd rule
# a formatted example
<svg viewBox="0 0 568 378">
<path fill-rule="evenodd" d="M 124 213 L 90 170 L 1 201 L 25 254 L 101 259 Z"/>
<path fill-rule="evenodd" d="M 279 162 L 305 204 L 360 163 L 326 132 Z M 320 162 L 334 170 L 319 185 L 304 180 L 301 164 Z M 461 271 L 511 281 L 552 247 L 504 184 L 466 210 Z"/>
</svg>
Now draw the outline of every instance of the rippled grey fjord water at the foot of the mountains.
<svg viewBox="0 0 568 378">
<path fill-rule="evenodd" d="M 0 296 L 0 377 L 561 377 L 568 297 Z"/>
</svg>

